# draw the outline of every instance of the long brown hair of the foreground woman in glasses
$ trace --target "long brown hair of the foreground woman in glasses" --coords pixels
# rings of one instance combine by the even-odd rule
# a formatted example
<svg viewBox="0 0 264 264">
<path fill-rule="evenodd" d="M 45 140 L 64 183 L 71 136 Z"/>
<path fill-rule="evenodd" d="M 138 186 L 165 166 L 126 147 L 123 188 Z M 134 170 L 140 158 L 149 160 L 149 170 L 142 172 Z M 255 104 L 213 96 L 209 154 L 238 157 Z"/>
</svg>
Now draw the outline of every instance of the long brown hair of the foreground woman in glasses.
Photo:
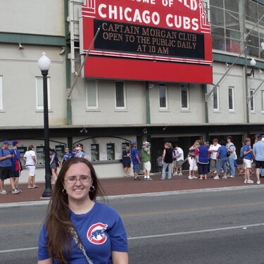
<svg viewBox="0 0 264 264">
<path fill-rule="evenodd" d="M 92 185 L 94 191 L 89 191 L 89 198 L 94 201 L 96 197 L 105 196 L 101 184 L 96 177 L 94 167 L 85 158 L 68 158 L 61 168 L 56 184 L 54 187 L 51 201 L 48 208 L 48 216 L 46 218 L 46 231 L 47 231 L 47 247 L 49 249 L 49 256 L 56 258 L 59 263 L 66 264 L 65 248 L 68 249 L 68 256 L 70 258 L 70 242 L 72 235 L 70 233 L 70 227 L 73 223 L 70 221 L 70 212 L 68 207 L 68 195 L 63 194 L 63 181 L 65 173 L 68 171 L 71 165 L 76 163 L 84 163 L 91 170 Z"/>
</svg>

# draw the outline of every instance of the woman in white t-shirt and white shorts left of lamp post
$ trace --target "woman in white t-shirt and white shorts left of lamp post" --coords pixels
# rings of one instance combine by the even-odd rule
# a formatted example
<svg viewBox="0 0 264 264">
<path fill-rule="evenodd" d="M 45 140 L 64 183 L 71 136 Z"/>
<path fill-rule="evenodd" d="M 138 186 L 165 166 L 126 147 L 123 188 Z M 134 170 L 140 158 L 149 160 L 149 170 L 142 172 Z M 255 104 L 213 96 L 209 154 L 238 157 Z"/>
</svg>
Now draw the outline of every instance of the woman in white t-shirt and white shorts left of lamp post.
<svg viewBox="0 0 264 264">
<path fill-rule="evenodd" d="M 36 154 L 34 153 L 33 145 L 28 146 L 27 151 L 23 156 L 23 160 L 25 161 L 25 168 L 28 170 L 27 188 L 28 189 L 38 188 L 38 186 L 34 182 L 37 160 L 36 160 Z"/>
</svg>

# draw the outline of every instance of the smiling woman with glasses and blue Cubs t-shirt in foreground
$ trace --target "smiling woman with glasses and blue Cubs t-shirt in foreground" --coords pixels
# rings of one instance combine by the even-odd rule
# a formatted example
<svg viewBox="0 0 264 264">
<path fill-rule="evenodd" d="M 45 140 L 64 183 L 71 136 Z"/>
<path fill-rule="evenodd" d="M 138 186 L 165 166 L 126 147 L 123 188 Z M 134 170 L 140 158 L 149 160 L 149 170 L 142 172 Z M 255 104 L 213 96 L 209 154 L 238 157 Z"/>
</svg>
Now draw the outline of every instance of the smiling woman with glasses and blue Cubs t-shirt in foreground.
<svg viewBox="0 0 264 264">
<path fill-rule="evenodd" d="M 87 159 L 65 161 L 39 235 L 38 264 L 128 263 L 120 216 L 95 201 L 102 192 Z"/>
</svg>

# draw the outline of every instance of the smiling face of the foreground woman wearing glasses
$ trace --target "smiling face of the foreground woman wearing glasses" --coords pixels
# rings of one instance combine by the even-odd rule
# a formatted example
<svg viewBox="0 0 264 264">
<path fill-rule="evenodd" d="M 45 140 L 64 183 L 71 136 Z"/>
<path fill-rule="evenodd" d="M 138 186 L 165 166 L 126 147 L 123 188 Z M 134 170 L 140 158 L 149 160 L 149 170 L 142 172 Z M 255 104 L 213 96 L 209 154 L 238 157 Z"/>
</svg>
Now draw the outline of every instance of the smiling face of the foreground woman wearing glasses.
<svg viewBox="0 0 264 264">
<path fill-rule="evenodd" d="M 74 163 L 65 173 L 63 187 L 67 191 L 69 203 L 89 199 L 91 186 L 91 170 L 85 163 Z"/>
</svg>

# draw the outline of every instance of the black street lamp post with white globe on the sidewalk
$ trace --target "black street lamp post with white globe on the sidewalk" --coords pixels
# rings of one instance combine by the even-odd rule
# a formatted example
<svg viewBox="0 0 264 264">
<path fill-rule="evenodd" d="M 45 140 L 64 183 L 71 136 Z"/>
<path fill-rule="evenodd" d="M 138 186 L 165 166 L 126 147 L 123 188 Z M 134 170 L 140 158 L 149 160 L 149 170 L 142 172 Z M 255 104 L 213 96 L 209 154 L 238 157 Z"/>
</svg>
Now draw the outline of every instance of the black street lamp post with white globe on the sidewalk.
<svg viewBox="0 0 264 264">
<path fill-rule="evenodd" d="M 51 168 L 49 165 L 49 111 L 48 111 L 48 86 L 46 76 L 49 73 L 51 60 L 46 56 L 45 52 L 38 61 L 39 70 L 43 76 L 43 111 L 44 111 L 44 154 L 45 154 L 45 190 L 42 197 L 51 197 Z"/>
</svg>

